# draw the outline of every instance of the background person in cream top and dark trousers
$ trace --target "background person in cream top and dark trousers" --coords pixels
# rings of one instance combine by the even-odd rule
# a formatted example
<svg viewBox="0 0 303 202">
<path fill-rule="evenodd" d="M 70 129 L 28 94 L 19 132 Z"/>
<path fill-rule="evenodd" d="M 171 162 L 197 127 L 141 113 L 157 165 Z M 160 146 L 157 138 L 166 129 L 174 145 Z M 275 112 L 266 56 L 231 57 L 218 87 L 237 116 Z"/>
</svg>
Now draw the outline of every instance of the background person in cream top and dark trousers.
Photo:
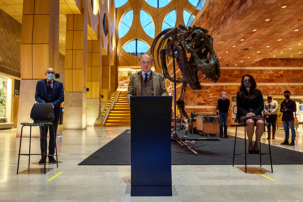
<svg viewBox="0 0 303 202">
<path fill-rule="evenodd" d="M 272 95 L 267 95 L 267 101 L 264 103 L 264 115 L 266 122 L 273 127 L 273 139 L 275 139 L 276 134 L 276 122 L 277 122 L 277 111 L 278 111 L 278 102 L 273 99 Z M 269 139 L 270 139 L 271 127 L 268 128 Z M 267 139 L 268 139 L 267 138 Z"/>
</svg>

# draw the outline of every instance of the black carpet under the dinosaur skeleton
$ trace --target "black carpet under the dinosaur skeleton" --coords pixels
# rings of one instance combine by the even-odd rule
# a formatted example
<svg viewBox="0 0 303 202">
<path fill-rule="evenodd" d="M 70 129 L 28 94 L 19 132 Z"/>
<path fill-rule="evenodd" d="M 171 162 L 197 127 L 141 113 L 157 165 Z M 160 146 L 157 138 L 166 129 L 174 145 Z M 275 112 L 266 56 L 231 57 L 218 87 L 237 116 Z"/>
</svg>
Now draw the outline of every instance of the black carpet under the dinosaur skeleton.
<svg viewBox="0 0 303 202">
<path fill-rule="evenodd" d="M 184 134 L 178 132 L 179 137 Z M 188 138 L 197 136 L 201 138 L 198 134 L 188 134 Z M 194 150 L 198 156 L 172 142 L 172 165 L 231 165 L 235 139 L 229 137 L 220 141 L 196 141 Z M 268 145 L 261 145 L 262 152 L 268 153 Z M 244 140 L 237 138 L 236 153 L 243 152 Z M 273 164 L 303 164 L 301 152 L 275 146 L 271 146 L 271 152 Z M 244 164 L 244 155 L 236 156 L 235 164 Z M 260 164 L 260 155 L 247 155 L 247 164 Z M 262 155 L 262 164 L 270 164 L 269 155 Z M 130 130 L 122 132 L 78 165 L 130 165 Z"/>
</svg>

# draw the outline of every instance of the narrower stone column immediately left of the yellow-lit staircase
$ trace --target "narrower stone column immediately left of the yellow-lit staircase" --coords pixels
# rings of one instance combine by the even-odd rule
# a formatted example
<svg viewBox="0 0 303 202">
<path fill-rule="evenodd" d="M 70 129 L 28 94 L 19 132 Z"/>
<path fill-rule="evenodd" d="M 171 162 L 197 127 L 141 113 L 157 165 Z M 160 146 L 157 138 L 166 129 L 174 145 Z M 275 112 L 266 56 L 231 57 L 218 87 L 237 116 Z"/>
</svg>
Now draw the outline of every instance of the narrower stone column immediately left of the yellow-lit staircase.
<svg viewBox="0 0 303 202">
<path fill-rule="evenodd" d="M 89 40 L 87 48 L 87 87 L 89 92 L 86 94 L 86 114 L 87 125 L 93 125 L 99 118 L 99 98 L 100 86 L 102 85 L 102 52 L 100 47 L 102 42 L 98 40 Z M 102 87 L 102 86 L 101 86 Z"/>
</svg>

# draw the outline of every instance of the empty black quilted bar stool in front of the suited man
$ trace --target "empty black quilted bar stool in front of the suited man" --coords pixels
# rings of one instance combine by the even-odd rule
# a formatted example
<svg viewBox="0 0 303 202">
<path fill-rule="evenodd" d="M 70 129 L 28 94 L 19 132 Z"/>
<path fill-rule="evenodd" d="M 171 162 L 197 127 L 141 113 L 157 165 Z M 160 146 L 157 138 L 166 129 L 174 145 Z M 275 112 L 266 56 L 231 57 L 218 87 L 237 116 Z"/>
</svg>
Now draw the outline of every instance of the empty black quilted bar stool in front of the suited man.
<svg viewBox="0 0 303 202">
<path fill-rule="evenodd" d="M 44 151 L 43 154 L 31 154 L 30 153 L 30 144 L 31 144 L 31 127 L 32 126 L 53 126 L 53 120 L 55 118 L 54 109 L 53 109 L 53 103 L 35 103 L 31 109 L 30 112 L 30 118 L 33 119 L 33 123 L 21 123 L 21 135 L 20 135 L 20 146 L 19 146 L 19 154 L 18 154 L 18 165 L 17 165 L 17 174 L 19 172 L 19 162 L 20 162 L 20 156 L 28 156 L 28 169 L 30 165 L 30 156 L 31 155 L 43 155 L 44 159 L 46 159 L 47 153 L 46 153 L 46 146 L 45 146 L 45 140 L 47 138 L 47 134 L 45 134 L 44 138 Z M 30 126 L 30 132 L 29 132 L 29 152 L 28 154 L 21 154 L 21 142 L 22 142 L 22 132 L 24 126 Z M 54 128 L 55 131 L 55 128 Z M 55 134 L 55 148 L 56 148 L 56 155 L 49 155 L 49 156 L 56 156 L 57 159 L 57 168 L 58 168 L 58 153 L 57 153 L 57 142 L 56 142 L 56 134 Z M 45 163 L 44 161 L 44 174 L 45 174 Z"/>
</svg>

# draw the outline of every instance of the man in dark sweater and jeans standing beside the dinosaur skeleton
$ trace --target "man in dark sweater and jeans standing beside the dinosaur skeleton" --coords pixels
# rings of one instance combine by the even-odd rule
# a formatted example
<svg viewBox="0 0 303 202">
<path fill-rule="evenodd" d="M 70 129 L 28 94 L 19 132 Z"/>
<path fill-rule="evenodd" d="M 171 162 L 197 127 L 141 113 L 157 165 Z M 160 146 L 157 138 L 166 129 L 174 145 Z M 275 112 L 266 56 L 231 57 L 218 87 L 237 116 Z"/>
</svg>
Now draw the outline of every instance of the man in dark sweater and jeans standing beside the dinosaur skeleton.
<svg viewBox="0 0 303 202">
<path fill-rule="evenodd" d="M 229 99 L 226 98 L 225 91 L 222 92 L 222 98 L 218 100 L 218 108 L 219 108 L 220 138 L 223 138 L 223 122 L 224 122 L 224 138 L 228 138 L 227 121 L 228 121 Z"/>
</svg>

